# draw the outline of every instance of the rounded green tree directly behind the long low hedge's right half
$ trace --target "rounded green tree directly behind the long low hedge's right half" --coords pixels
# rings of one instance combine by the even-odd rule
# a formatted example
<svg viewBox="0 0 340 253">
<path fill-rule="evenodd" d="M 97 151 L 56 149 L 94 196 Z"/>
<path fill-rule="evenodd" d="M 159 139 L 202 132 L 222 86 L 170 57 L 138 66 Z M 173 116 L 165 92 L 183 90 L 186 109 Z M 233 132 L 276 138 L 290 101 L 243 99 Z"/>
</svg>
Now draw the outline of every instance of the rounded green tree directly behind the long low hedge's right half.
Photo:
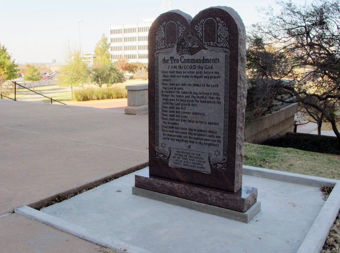
<svg viewBox="0 0 340 253">
<path fill-rule="evenodd" d="M 93 68 L 91 80 L 101 87 L 104 83 L 111 86 L 114 83 L 124 82 L 125 77 L 115 64 L 110 63 L 99 68 Z"/>
</svg>

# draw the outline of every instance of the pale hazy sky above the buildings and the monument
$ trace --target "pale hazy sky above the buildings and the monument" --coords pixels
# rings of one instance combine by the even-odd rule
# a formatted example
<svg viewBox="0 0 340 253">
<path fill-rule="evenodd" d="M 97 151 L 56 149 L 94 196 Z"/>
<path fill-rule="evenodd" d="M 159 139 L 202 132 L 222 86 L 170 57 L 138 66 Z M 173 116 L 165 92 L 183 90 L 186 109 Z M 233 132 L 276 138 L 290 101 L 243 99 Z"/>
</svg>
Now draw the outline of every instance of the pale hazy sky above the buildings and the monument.
<svg viewBox="0 0 340 253">
<path fill-rule="evenodd" d="M 208 7 L 231 7 L 246 27 L 261 20 L 256 7 L 276 6 L 274 0 L 172 1 L 192 17 Z M 93 52 L 103 33 L 110 37 L 110 25 L 156 18 L 161 6 L 162 0 L 0 0 L 0 44 L 18 64 L 64 62 L 68 45 L 78 49 L 80 41 L 82 52 Z"/>
</svg>

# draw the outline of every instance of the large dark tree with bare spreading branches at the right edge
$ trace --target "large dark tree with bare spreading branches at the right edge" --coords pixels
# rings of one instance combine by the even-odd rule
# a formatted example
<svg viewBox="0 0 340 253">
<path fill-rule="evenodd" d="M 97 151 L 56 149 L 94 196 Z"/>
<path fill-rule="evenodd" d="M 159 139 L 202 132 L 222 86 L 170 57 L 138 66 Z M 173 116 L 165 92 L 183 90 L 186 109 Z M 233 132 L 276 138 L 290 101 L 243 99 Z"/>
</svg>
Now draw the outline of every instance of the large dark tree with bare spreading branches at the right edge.
<svg viewBox="0 0 340 253">
<path fill-rule="evenodd" d="M 274 13 L 271 8 L 263 9 L 269 18 L 255 24 L 251 34 L 253 39 L 260 35 L 266 45 L 276 49 L 274 54 L 283 57 L 280 59 L 282 68 L 276 70 L 275 75 L 268 74 L 260 61 L 250 60 L 257 70 L 268 74 L 262 80 L 274 83 L 281 98 L 285 94 L 291 102 L 300 102 L 323 114 L 340 140 L 336 113 L 333 113 L 333 105 L 336 108 L 340 103 L 339 1 L 315 0 L 302 6 L 291 1 L 276 3 L 281 11 Z M 295 84 L 283 82 L 284 78 Z"/>
</svg>

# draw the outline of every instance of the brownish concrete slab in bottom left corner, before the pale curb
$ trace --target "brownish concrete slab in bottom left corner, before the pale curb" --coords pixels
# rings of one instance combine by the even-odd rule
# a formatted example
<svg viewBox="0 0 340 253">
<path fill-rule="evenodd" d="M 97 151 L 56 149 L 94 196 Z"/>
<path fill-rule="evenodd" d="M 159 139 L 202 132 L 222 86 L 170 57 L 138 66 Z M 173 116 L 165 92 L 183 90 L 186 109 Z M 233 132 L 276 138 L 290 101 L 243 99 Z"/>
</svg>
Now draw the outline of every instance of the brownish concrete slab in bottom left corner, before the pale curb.
<svg viewBox="0 0 340 253">
<path fill-rule="evenodd" d="M 0 217 L 0 252 L 102 252 L 100 246 L 18 214 Z"/>
</svg>

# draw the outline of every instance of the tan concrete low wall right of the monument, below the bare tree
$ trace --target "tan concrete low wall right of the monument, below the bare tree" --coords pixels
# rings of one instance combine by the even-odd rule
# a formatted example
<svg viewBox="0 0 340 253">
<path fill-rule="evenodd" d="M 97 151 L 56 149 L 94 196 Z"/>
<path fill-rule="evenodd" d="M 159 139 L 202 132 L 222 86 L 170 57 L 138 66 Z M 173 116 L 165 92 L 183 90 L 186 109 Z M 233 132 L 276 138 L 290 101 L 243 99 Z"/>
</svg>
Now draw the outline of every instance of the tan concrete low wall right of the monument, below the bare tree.
<svg viewBox="0 0 340 253">
<path fill-rule="evenodd" d="M 289 104 L 271 114 L 246 121 L 245 142 L 262 143 L 267 139 L 293 132 L 297 108 L 297 103 Z"/>
</svg>

